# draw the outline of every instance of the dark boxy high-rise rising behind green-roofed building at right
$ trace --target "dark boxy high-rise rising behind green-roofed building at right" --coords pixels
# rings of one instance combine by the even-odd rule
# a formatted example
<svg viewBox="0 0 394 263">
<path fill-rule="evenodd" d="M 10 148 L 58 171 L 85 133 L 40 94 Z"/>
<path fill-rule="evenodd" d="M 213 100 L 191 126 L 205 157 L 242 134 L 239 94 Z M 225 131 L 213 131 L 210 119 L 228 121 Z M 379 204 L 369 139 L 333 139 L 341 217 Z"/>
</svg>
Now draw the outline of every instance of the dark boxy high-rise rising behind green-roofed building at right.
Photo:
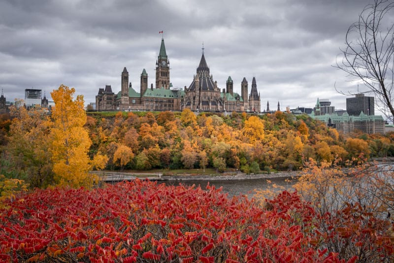
<svg viewBox="0 0 394 263">
<path fill-rule="evenodd" d="M 346 111 L 349 115 L 359 116 L 361 111 L 365 115 L 375 115 L 375 102 L 373 97 L 357 94 L 354 98 L 346 99 Z"/>
</svg>

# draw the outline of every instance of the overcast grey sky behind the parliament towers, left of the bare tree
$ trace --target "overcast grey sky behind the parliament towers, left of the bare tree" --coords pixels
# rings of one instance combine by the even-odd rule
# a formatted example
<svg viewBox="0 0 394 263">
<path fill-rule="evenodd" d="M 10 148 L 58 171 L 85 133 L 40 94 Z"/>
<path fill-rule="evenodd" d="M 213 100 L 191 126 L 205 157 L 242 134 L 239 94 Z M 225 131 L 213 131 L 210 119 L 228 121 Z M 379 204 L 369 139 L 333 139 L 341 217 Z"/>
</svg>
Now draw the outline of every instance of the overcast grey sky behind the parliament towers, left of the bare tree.
<svg viewBox="0 0 394 263">
<path fill-rule="evenodd" d="M 201 58 L 220 88 L 230 75 L 240 93 L 256 76 L 275 109 L 313 107 L 330 99 L 346 108 L 342 91 L 357 91 L 333 67 L 349 26 L 370 0 L 0 0 L 0 89 L 7 100 L 25 89 L 49 97 L 61 84 L 95 102 L 99 88 L 121 89 L 126 66 L 139 91 L 145 68 L 155 83 L 161 37 L 170 81 L 189 86 Z M 363 86 L 360 91 L 365 90 Z"/>
</svg>

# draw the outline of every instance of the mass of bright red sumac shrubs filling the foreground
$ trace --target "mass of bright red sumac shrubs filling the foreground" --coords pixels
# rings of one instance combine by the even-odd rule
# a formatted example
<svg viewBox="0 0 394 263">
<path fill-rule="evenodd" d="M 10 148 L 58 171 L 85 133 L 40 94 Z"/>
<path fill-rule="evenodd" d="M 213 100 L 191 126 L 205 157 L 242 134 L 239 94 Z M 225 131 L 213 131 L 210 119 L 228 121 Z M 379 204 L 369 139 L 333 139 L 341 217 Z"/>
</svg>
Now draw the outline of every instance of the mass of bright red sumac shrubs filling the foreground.
<svg viewBox="0 0 394 263">
<path fill-rule="evenodd" d="M 228 198 L 209 185 L 202 190 L 135 180 L 91 191 L 35 190 L 8 205 L 0 210 L 0 261 L 4 262 L 358 259 L 357 254 L 340 258 L 329 250 L 329 239 L 356 247 L 367 243 L 379 256 L 393 255 L 393 240 L 376 231 L 372 234 L 352 219 L 355 208 L 320 217 L 296 193 L 283 192 L 262 208 L 247 197 Z M 329 233 L 320 228 L 320 219 Z M 349 224 L 329 225 L 338 221 Z"/>
</svg>

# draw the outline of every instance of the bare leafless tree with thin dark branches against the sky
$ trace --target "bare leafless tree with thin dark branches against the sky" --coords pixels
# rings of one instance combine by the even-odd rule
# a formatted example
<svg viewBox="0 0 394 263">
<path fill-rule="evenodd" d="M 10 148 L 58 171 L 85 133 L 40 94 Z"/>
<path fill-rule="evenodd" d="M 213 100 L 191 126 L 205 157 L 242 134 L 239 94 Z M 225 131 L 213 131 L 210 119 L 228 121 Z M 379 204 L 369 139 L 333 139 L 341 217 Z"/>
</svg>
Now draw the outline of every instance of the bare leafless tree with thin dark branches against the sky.
<svg viewBox="0 0 394 263">
<path fill-rule="evenodd" d="M 374 0 L 365 6 L 359 20 L 352 24 L 345 38 L 345 48 L 336 67 L 352 80 L 361 80 L 373 93 L 376 104 L 388 120 L 394 121 L 394 19 L 393 0 Z M 350 92 L 344 95 L 352 95 Z"/>
</svg>

